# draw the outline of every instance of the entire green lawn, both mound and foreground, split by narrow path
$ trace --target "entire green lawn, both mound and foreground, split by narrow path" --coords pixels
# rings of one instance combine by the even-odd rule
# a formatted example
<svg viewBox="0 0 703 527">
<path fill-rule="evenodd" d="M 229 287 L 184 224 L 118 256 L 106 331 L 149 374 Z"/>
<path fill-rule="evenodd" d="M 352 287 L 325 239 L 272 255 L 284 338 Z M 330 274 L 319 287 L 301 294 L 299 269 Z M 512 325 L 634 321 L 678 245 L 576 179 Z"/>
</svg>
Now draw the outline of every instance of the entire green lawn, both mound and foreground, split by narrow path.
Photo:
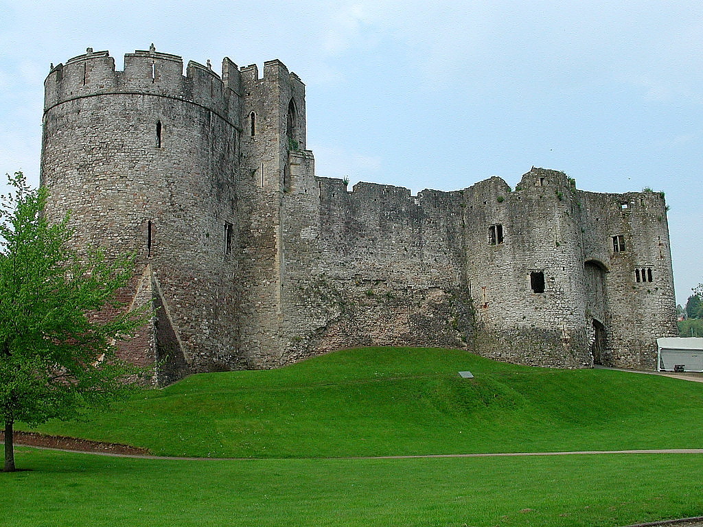
<svg viewBox="0 0 703 527">
<path fill-rule="evenodd" d="M 475 379 L 461 379 L 470 370 Z M 194 375 L 52 434 L 134 460 L 18 448 L 0 526 L 622 526 L 703 514 L 703 455 L 302 459 L 700 448 L 703 384 L 456 350 L 356 349 Z"/>
</svg>

